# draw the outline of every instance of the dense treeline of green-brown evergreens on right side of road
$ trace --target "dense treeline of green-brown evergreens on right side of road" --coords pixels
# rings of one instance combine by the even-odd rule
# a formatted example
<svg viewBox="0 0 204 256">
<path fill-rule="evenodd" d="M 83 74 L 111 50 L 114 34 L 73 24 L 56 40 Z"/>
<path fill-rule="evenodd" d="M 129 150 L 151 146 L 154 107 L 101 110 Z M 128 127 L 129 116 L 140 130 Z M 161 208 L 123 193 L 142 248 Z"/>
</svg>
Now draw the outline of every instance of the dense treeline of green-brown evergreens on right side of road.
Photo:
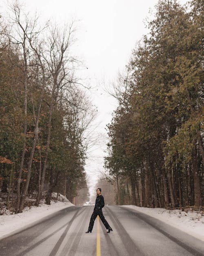
<svg viewBox="0 0 204 256">
<path fill-rule="evenodd" d="M 158 2 L 115 91 L 105 167 L 117 204 L 204 205 L 204 6 Z"/>
</svg>

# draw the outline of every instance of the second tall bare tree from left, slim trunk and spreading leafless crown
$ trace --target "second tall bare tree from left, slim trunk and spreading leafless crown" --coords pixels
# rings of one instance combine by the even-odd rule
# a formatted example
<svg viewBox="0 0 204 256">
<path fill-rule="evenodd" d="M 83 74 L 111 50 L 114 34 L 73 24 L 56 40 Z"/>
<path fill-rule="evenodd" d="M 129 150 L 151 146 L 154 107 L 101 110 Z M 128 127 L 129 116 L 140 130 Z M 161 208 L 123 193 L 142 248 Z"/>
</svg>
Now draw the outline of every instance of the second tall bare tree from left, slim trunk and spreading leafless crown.
<svg viewBox="0 0 204 256">
<path fill-rule="evenodd" d="M 49 104 L 47 145 L 42 170 L 41 192 L 44 186 L 46 169 L 48 167 L 47 162 L 51 139 L 51 120 L 53 110 L 58 101 L 60 90 L 73 83 L 74 64 L 77 63 L 77 60 L 70 55 L 70 47 L 74 42 L 74 32 L 74 22 L 71 22 L 70 25 L 64 25 L 63 29 L 58 27 L 56 24 L 52 25 L 47 34 L 46 50 L 42 54 L 44 61 L 47 63 L 48 72 L 50 72 L 51 75 L 51 102 Z"/>
</svg>

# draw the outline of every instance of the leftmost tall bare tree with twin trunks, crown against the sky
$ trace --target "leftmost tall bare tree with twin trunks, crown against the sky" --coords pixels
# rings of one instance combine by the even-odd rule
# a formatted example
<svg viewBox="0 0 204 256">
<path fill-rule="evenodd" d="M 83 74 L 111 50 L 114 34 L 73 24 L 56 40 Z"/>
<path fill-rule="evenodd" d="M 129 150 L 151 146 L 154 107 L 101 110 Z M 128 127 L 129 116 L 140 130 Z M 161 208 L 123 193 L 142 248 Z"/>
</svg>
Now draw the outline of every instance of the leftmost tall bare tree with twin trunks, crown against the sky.
<svg viewBox="0 0 204 256">
<path fill-rule="evenodd" d="M 40 111 L 41 111 L 41 105 L 42 105 L 42 99 L 43 99 L 43 91 L 46 86 L 46 77 L 45 77 L 45 64 L 44 57 L 42 58 L 42 52 L 44 47 L 44 41 L 40 40 L 38 38 L 40 32 L 42 32 L 43 29 L 40 29 L 38 27 L 37 29 L 37 21 L 38 18 L 35 16 L 34 20 L 31 21 L 29 19 L 28 14 L 22 13 L 22 5 L 18 1 L 13 2 L 12 5 L 10 5 L 10 9 L 12 12 L 11 21 L 12 21 L 12 27 L 11 32 L 9 33 L 9 38 L 12 43 L 15 43 L 17 45 L 22 46 L 22 54 L 24 57 L 24 63 L 23 63 L 23 69 L 24 69 L 24 116 L 25 116 L 25 123 L 24 123 L 24 145 L 23 145 L 23 151 L 22 151 L 22 157 L 20 162 L 20 170 L 18 174 L 18 182 L 17 182 L 17 202 L 16 202 L 16 213 L 22 212 L 22 209 L 24 207 L 24 201 L 28 192 L 29 188 L 29 182 L 30 182 L 30 175 L 31 175 L 31 167 L 32 167 L 32 161 L 33 161 L 33 155 L 35 152 L 35 146 L 38 140 L 38 134 L 40 132 L 40 129 L 38 127 L 39 125 L 39 118 L 40 118 Z M 36 31 L 37 30 L 37 31 Z M 41 91 L 40 94 L 40 100 L 38 103 L 38 108 L 34 115 L 34 138 L 33 138 L 33 144 L 30 151 L 28 166 L 27 166 L 27 179 L 25 187 L 22 191 L 22 195 L 20 195 L 20 184 L 22 181 L 22 169 L 24 165 L 24 157 L 25 157 L 25 151 L 26 151 L 26 134 L 27 134 L 27 101 L 28 101 L 28 75 L 29 75 L 29 65 L 32 64 L 35 66 L 39 66 L 41 69 L 41 76 L 42 76 L 42 82 L 38 85 L 39 91 Z"/>
</svg>

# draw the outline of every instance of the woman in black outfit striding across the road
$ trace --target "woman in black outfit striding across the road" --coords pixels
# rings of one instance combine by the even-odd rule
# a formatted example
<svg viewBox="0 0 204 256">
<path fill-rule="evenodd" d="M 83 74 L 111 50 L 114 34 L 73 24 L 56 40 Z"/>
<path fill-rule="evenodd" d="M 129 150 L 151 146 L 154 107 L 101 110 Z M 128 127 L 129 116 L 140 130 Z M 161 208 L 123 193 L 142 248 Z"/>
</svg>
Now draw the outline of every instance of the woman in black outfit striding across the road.
<svg viewBox="0 0 204 256">
<path fill-rule="evenodd" d="M 89 229 L 88 229 L 88 231 L 86 231 L 86 233 L 89 233 L 89 232 L 91 233 L 91 231 L 93 229 L 93 224 L 94 224 L 94 221 L 95 221 L 95 218 L 97 217 L 97 215 L 99 215 L 99 217 L 102 220 L 106 229 L 109 229 L 109 231 L 107 231 L 107 233 L 110 233 L 110 231 L 113 231 L 113 229 L 111 229 L 111 227 L 109 226 L 109 224 L 106 221 L 106 219 L 103 215 L 103 212 L 102 212 L 102 208 L 104 207 L 105 204 L 104 204 L 104 198 L 101 195 L 101 188 L 97 188 L 96 193 L 97 193 L 97 197 L 95 199 L 95 207 L 94 207 L 93 213 L 91 215 Z"/>
</svg>

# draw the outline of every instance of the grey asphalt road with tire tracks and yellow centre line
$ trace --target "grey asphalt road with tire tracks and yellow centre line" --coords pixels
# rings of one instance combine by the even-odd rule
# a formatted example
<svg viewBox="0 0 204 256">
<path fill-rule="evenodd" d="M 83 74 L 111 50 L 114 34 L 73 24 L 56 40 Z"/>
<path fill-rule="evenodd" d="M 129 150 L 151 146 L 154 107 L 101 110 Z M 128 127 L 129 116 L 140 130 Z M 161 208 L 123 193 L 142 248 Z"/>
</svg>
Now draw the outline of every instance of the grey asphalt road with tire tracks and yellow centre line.
<svg viewBox="0 0 204 256">
<path fill-rule="evenodd" d="M 0 256 L 204 256 L 204 242 L 160 220 L 122 206 L 104 206 L 113 231 L 94 206 L 71 206 L 0 240 Z"/>
</svg>

